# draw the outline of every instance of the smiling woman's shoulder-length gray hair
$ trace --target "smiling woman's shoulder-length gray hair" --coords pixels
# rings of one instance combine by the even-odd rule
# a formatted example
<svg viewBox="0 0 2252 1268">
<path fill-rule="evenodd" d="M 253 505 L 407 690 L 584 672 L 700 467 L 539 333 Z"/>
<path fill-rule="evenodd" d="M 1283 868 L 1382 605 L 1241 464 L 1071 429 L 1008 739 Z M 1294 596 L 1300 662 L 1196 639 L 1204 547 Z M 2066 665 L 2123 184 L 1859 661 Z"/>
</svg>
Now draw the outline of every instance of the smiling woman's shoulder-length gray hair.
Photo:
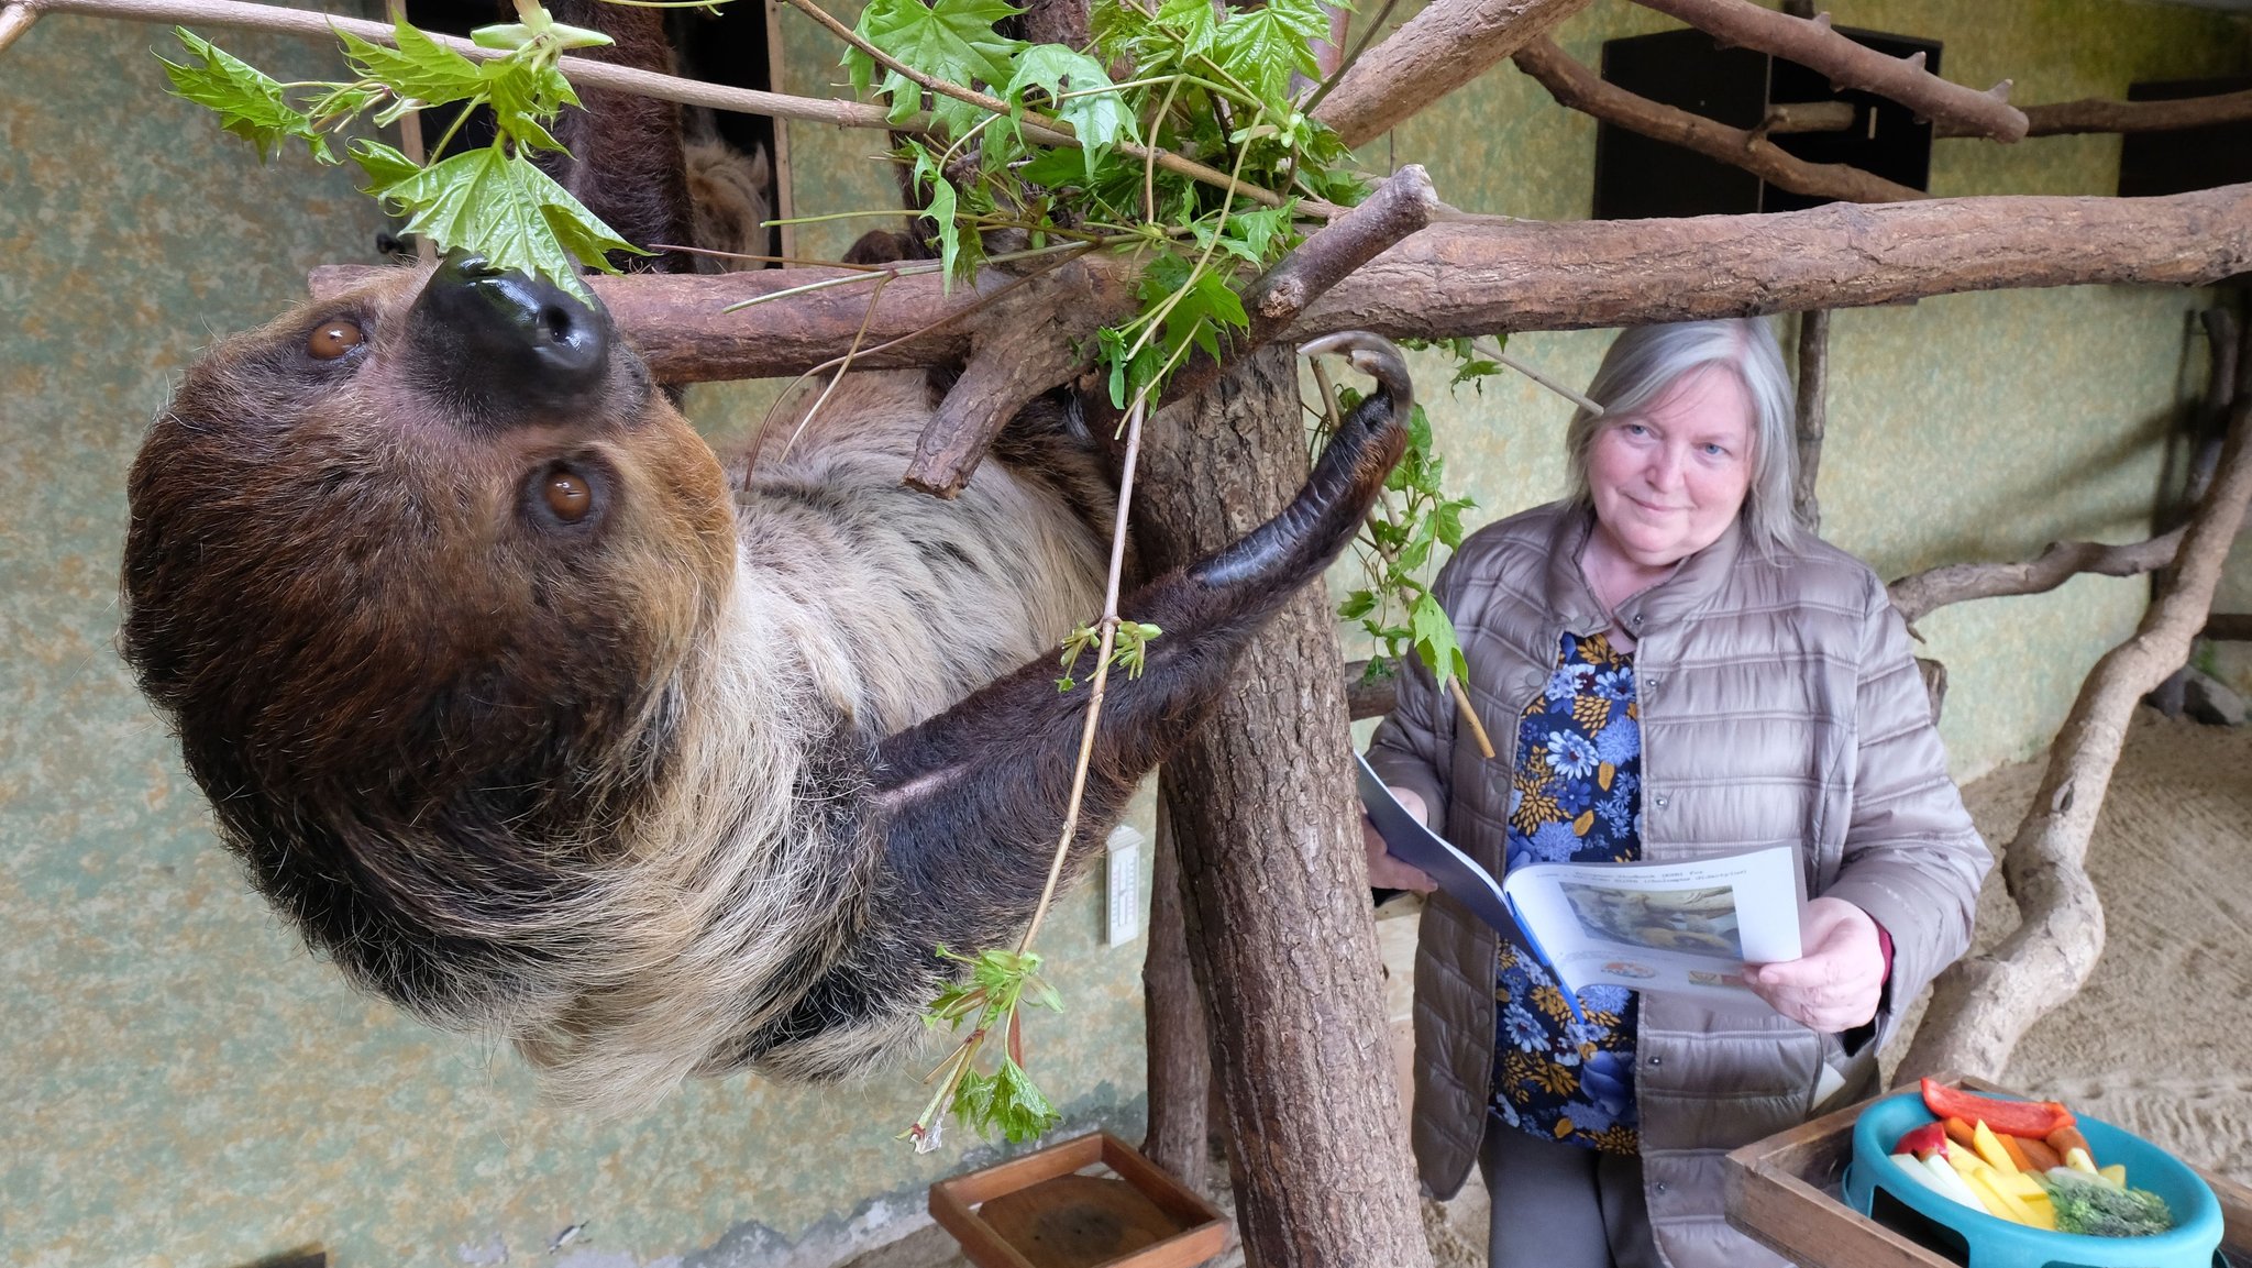
<svg viewBox="0 0 2252 1268">
<path fill-rule="evenodd" d="M 1743 532 L 1761 554 L 1788 554 L 1799 534 L 1793 509 L 1799 477 L 1797 390 L 1784 369 L 1784 349 L 1763 318 L 1619 331 L 1594 381 L 1588 383 L 1588 399 L 1603 412 L 1581 408 L 1563 435 L 1570 498 L 1579 507 L 1594 504 L 1588 489 L 1588 450 L 1594 448 L 1606 421 L 1642 410 L 1675 378 L 1705 365 L 1736 372 L 1743 394 L 1752 401 L 1752 486 L 1743 495 Z"/>
</svg>

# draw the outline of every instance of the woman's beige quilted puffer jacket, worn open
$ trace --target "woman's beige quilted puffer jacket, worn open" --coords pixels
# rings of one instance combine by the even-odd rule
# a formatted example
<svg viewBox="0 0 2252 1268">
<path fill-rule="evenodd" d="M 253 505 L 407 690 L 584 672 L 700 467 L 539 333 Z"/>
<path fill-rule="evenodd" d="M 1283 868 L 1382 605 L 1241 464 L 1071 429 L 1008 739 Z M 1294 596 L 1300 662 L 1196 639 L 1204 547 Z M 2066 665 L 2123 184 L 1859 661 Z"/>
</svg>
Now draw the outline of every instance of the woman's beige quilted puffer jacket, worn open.
<svg viewBox="0 0 2252 1268">
<path fill-rule="evenodd" d="M 1435 827 L 1500 874 L 1518 716 L 1547 682 L 1563 631 L 1603 617 L 1579 572 L 1585 511 L 1538 507 L 1462 543 L 1439 574 L 1471 664 L 1471 700 L 1498 750 L 1455 739 L 1455 705 L 1417 667 L 1369 761 L 1414 788 Z M 1907 631 L 1876 574 L 1808 541 L 1766 561 L 1730 529 L 1619 606 L 1639 640 L 1642 856 L 1698 858 L 1790 842 L 1811 894 L 1858 903 L 1892 932 L 1876 1041 L 1847 1052 L 1763 1004 L 1646 995 L 1635 1047 L 1644 1194 L 1675 1268 L 1779 1259 L 1727 1227 L 1721 1155 L 1865 1095 L 1901 1009 L 1970 941 L 1991 865 L 1946 773 Z M 1493 1072 L 1495 932 L 1444 894 L 1423 912 L 1414 973 L 1414 1153 L 1453 1196 L 1477 1160 Z"/>
</svg>

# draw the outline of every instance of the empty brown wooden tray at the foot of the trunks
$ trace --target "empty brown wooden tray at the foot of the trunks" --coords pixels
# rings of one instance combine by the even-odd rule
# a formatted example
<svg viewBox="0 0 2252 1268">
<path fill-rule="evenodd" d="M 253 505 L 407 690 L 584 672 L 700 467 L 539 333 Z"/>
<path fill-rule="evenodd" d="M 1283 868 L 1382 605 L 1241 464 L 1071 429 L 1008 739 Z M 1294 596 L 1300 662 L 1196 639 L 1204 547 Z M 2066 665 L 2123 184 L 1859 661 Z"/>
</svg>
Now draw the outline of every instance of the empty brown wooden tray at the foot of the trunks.
<svg viewBox="0 0 2252 1268">
<path fill-rule="evenodd" d="M 1081 1176 L 1103 1164 L 1117 1176 Z M 977 1268 L 1194 1268 L 1221 1212 L 1099 1131 L 930 1187 L 930 1216 Z"/>
</svg>

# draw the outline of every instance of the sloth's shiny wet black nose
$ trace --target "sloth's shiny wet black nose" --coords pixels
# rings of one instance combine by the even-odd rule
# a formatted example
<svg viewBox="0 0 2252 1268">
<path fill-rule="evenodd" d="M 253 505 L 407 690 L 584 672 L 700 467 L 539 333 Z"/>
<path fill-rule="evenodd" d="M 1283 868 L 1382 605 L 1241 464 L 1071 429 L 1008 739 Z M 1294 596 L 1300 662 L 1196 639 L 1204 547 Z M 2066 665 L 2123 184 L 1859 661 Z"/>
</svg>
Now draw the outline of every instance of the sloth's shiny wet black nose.
<svg viewBox="0 0 2252 1268">
<path fill-rule="evenodd" d="M 610 315 L 477 255 L 439 261 L 410 313 L 419 363 L 482 412 L 563 408 L 601 385 Z"/>
</svg>

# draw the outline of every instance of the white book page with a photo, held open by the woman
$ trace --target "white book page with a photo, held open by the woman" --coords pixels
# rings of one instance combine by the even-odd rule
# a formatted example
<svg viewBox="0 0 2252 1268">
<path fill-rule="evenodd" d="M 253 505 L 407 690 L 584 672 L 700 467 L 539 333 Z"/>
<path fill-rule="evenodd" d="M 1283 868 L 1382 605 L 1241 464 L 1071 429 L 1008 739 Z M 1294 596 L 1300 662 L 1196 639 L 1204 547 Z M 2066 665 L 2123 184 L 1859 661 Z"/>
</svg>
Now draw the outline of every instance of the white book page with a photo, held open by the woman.
<svg viewBox="0 0 2252 1268">
<path fill-rule="evenodd" d="M 1682 863 L 1534 863 L 1502 883 L 1558 977 L 1752 1000 L 1745 964 L 1799 957 L 1799 851 Z"/>
</svg>

